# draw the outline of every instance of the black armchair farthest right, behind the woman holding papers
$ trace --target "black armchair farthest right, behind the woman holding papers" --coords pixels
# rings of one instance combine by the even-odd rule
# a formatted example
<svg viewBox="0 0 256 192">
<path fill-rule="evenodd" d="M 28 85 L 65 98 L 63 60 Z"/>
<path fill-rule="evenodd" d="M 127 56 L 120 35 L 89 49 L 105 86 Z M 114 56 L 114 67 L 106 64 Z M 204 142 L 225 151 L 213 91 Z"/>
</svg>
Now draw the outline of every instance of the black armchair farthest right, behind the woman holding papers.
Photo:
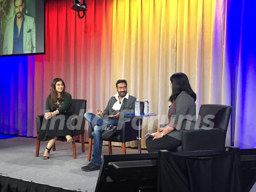
<svg viewBox="0 0 256 192">
<path fill-rule="evenodd" d="M 231 108 L 227 105 L 201 105 L 197 119 L 199 128 L 183 130 L 182 144 L 174 151 L 224 150 Z"/>
</svg>

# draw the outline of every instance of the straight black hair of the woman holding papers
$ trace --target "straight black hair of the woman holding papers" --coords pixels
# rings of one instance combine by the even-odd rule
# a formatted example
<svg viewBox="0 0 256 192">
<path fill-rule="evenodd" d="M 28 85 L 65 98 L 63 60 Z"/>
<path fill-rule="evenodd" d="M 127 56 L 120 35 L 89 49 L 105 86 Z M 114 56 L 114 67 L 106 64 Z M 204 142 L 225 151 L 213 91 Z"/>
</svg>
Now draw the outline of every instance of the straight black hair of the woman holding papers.
<svg viewBox="0 0 256 192">
<path fill-rule="evenodd" d="M 177 96 L 181 93 L 181 91 L 185 91 L 188 95 L 193 97 L 194 101 L 196 101 L 196 94 L 191 89 L 191 86 L 186 74 L 175 73 L 170 77 L 170 81 L 172 82 L 172 95 L 169 98 L 170 102 L 173 102 L 177 98 Z"/>
</svg>

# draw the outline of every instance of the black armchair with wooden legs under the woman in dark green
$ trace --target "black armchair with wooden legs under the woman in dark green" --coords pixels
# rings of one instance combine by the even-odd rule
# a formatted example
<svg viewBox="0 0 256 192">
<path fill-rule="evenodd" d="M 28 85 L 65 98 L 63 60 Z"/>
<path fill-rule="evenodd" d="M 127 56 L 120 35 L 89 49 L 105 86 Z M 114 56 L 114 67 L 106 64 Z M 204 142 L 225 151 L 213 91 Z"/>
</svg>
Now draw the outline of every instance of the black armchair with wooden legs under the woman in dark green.
<svg viewBox="0 0 256 192">
<path fill-rule="evenodd" d="M 77 119 L 74 118 L 71 120 L 71 125 L 76 126 L 74 130 L 72 130 L 71 137 L 73 138 L 72 148 L 73 148 L 73 157 L 76 159 L 76 146 L 75 146 L 75 136 L 81 135 L 81 142 L 82 142 L 82 152 L 85 152 L 85 145 L 84 145 L 84 126 L 85 126 L 85 119 L 84 119 L 84 113 L 86 111 L 86 100 L 82 99 L 72 99 L 72 105 L 73 105 L 73 115 L 76 117 L 78 116 L 79 119 L 81 119 L 81 126 L 78 126 Z M 38 140 L 38 134 L 39 130 L 42 127 L 44 115 L 38 115 L 36 116 L 36 124 L 37 124 L 37 144 L 36 144 L 36 157 L 39 155 L 39 148 L 40 148 L 40 141 Z M 77 127 L 78 126 L 78 127 Z M 53 145 L 53 151 L 55 151 L 55 144 Z"/>
</svg>

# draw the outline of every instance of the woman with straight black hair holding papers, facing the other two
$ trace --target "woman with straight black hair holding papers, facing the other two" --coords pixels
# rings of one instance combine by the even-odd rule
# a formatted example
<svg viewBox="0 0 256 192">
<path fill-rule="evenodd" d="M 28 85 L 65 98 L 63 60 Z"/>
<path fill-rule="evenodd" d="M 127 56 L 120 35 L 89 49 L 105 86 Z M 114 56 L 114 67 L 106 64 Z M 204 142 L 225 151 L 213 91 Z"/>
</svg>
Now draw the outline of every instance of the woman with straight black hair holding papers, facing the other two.
<svg viewBox="0 0 256 192">
<path fill-rule="evenodd" d="M 157 132 L 146 139 L 149 153 L 159 150 L 171 151 L 181 145 L 182 130 L 194 128 L 196 124 L 196 94 L 191 89 L 187 75 L 175 73 L 170 78 L 172 95 L 169 98 L 171 106 L 168 111 L 169 123 L 158 128 Z"/>
</svg>

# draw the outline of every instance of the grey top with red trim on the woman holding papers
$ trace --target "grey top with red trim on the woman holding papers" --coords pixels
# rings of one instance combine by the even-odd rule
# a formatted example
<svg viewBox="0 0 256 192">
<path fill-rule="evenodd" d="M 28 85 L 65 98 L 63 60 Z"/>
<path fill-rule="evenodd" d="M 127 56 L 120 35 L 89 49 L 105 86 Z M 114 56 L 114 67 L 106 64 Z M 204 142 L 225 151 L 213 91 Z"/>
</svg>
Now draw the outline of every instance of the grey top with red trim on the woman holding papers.
<svg viewBox="0 0 256 192">
<path fill-rule="evenodd" d="M 182 130 L 194 129 L 196 125 L 196 102 L 193 97 L 182 91 L 172 102 L 168 119 L 168 126 L 175 128 L 168 135 L 181 140 Z"/>
</svg>

